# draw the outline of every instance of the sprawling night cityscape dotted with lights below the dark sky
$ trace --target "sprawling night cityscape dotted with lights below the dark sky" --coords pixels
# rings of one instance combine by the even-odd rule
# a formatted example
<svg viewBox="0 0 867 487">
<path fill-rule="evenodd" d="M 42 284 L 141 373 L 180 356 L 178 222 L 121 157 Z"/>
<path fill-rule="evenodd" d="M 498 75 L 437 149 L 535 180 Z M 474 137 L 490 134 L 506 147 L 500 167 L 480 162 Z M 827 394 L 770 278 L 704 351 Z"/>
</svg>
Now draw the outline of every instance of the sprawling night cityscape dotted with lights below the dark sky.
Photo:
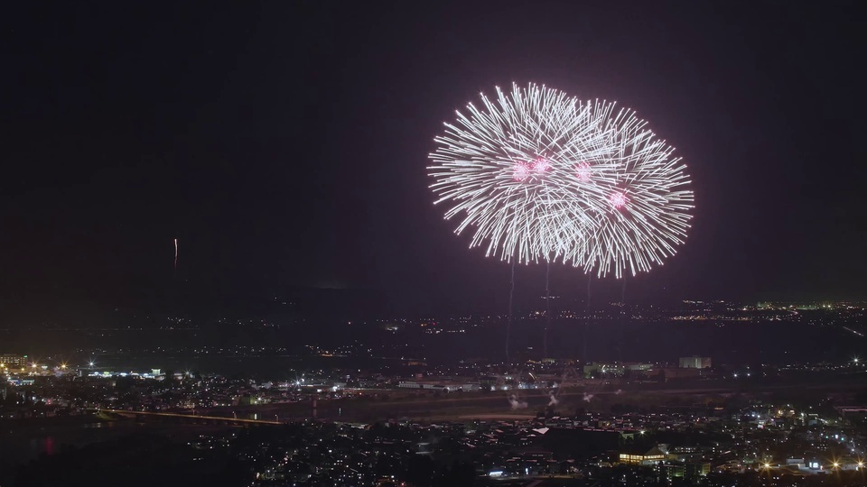
<svg viewBox="0 0 867 487">
<path fill-rule="evenodd" d="M 63 462 L 85 468 L 144 435 L 171 449 L 173 471 L 190 482 L 861 482 L 865 312 L 696 300 L 530 309 L 513 317 L 522 346 L 511 362 L 490 343 L 505 316 L 335 322 L 307 341 L 294 336 L 307 319 L 298 316 L 5 329 L 18 349 L 0 355 L 0 421 L 15 425 L 5 466 L 39 452 L 19 475 L 61 482 Z M 216 326 L 243 337 L 203 333 Z M 64 335 L 66 348 L 25 345 L 46 333 Z M 648 349 L 653 336 L 668 344 Z M 39 424 L 56 435 L 33 443 Z M 79 425 L 110 427 L 79 450 L 63 439 Z M 135 455 L 154 455 L 140 447 Z M 132 455 L 122 451 L 119 464 Z"/>
</svg>

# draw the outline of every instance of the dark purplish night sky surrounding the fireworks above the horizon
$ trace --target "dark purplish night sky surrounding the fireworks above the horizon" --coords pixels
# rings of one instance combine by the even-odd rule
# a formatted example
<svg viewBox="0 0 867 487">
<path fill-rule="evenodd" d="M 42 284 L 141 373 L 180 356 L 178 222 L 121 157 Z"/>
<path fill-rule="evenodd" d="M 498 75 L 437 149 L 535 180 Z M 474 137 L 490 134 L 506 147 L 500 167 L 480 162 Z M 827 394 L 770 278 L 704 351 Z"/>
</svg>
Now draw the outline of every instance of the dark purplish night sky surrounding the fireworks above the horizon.
<svg viewBox="0 0 867 487">
<path fill-rule="evenodd" d="M 508 264 L 452 234 L 425 166 L 455 109 L 513 81 L 631 106 L 689 164 L 693 231 L 631 296 L 865 296 L 856 2 L 218 4 L 4 7 L 5 302 L 181 280 L 501 307 Z M 544 277 L 520 268 L 517 292 Z"/>
</svg>

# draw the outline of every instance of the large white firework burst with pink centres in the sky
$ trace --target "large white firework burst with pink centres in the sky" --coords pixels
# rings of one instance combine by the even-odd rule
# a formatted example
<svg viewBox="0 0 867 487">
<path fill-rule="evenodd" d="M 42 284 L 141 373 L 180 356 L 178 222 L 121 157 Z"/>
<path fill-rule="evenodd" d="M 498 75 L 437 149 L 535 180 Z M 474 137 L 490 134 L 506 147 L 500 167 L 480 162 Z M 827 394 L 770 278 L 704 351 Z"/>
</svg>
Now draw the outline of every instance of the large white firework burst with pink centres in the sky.
<svg viewBox="0 0 867 487">
<path fill-rule="evenodd" d="M 675 253 L 693 200 L 685 166 L 633 112 L 533 84 L 481 103 L 445 124 L 428 168 L 471 246 L 618 277 Z"/>
</svg>

